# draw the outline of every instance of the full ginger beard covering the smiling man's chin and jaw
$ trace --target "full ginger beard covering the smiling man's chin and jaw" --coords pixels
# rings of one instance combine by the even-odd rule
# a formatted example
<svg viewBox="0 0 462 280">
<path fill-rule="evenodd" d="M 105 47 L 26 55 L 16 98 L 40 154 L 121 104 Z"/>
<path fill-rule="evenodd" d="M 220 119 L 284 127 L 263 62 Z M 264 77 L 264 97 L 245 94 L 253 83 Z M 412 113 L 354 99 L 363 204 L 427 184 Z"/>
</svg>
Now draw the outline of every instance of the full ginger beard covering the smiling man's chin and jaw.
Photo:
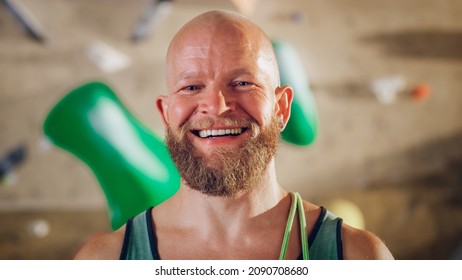
<svg viewBox="0 0 462 280">
<path fill-rule="evenodd" d="M 194 124 L 184 124 L 179 136 L 167 127 L 165 142 L 189 187 L 210 196 L 232 197 L 258 184 L 276 154 L 280 124 L 275 116 L 261 132 L 256 123 L 248 124 L 252 135 L 241 147 L 220 148 L 212 155 L 198 151 L 185 137 Z"/>
</svg>

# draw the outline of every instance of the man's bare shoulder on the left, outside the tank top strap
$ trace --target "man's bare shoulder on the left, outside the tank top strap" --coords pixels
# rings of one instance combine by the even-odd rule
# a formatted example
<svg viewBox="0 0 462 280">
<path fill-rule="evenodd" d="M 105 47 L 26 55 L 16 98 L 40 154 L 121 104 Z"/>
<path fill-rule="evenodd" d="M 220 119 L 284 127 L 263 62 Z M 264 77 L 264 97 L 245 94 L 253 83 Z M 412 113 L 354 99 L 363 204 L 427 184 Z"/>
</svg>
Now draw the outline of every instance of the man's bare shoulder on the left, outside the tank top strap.
<svg viewBox="0 0 462 280">
<path fill-rule="evenodd" d="M 120 257 L 125 226 L 110 233 L 90 237 L 75 255 L 76 260 L 116 260 Z"/>
</svg>

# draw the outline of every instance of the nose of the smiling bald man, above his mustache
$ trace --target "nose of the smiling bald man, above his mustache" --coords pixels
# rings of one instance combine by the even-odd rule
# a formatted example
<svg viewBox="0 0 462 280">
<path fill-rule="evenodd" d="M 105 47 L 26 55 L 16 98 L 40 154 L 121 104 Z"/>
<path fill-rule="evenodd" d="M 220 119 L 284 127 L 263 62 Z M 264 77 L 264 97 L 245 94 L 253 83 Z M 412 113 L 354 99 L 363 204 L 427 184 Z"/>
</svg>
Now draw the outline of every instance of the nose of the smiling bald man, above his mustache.
<svg viewBox="0 0 462 280">
<path fill-rule="evenodd" d="M 200 111 L 203 114 L 219 116 L 234 107 L 232 97 L 225 90 L 211 88 L 206 90 L 201 99 Z"/>
</svg>

